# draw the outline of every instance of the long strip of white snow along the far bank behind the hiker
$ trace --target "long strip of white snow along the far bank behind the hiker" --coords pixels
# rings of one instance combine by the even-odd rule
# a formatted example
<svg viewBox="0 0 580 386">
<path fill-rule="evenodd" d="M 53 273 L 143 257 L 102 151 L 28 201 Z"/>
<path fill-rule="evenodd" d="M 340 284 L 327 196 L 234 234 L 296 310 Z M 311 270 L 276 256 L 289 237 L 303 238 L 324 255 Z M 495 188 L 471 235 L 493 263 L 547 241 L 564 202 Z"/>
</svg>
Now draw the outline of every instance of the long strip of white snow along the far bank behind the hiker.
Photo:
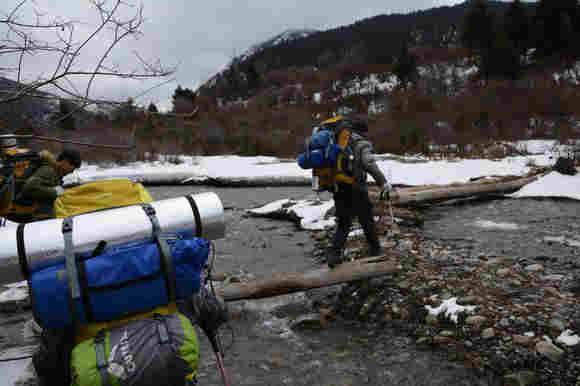
<svg viewBox="0 0 580 386">
<path fill-rule="evenodd" d="M 377 155 L 377 164 L 392 184 L 446 185 L 469 182 L 481 176 L 523 175 L 530 165 L 547 166 L 554 163 L 549 154 L 508 157 L 502 160 L 463 159 L 425 160 L 421 156 L 394 157 Z M 301 169 L 294 160 L 276 157 L 241 157 L 236 155 L 182 157 L 183 163 L 137 162 L 126 166 L 102 168 L 83 165 L 65 183 L 85 183 L 111 178 L 129 178 L 143 183 L 204 183 L 215 179 L 227 182 L 283 181 L 309 184 L 311 171 Z M 372 179 L 371 179 L 372 180 Z"/>
</svg>

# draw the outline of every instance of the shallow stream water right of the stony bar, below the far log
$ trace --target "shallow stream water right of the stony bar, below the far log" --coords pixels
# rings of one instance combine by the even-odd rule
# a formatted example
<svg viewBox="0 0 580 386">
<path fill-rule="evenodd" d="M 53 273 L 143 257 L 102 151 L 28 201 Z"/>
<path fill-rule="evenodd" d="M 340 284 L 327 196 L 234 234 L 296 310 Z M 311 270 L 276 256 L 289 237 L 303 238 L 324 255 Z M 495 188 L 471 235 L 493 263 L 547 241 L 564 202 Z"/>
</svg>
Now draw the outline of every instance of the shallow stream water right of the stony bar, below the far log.
<svg viewBox="0 0 580 386">
<path fill-rule="evenodd" d="M 565 263 L 580 257 L 580 202 L 500 199 L 439 205 L 425 215 L 425 237 L 474 257 Z"/>
</svg>

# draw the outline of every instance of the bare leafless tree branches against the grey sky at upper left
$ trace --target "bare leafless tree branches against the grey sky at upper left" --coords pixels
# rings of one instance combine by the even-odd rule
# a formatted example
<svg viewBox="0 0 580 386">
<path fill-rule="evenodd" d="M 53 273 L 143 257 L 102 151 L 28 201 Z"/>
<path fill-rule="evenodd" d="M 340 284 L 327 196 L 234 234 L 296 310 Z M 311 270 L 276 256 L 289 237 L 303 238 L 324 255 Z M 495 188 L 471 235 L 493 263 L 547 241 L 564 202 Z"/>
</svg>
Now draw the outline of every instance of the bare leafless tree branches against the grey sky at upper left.
<svg viewBox="0 0 580 386">
<path fill-rule="evenodd" d="M 57 17 L 52 21 L 45 21 L 45 17 L 35 10 L 34 20 L 22 20 L 20 14 L 32 0 L 21 0 L 6 14 L 0 11 L 0 64 L 1 59 L 12 56 L 15 63 L 12 67 L 1 67 L 0 71 L 15 74 L 17 86 L 8 90 L 0 90 L 0 105 L 21 100 L 25 97 L 42 98 L 44 90 L 60 90 L 63 96 L 75 100 L 79 108 L 89 104 L 106 103 L 109 101 L 93 99 L 91 88 L 98 79 L 151 79 L 167 78 L 174 73 L 173 68 L 164 67 L 159 61 L 145 60 L 135 53 L 135 67 L 121 68 L 109 64 L 111 53 L 119 43 L 129 38 L 137 38 L 143 34 L 143 6 L 134 6 L 123 0 L 89 0 L 88 4 L 98 17 L 97 25 L 88 35 L 79 39 L 75 27 L 81 22 Z M 131 16 L 124 18 L 126 9 L 133 11 Z M 83 25 L 84 27 L 84 25 Z M 76 32 L 76 33 L 75 33 Z M 50 40 L 56 36 L 56 39 Z M 108 43 L 102 46 L 95 55 L 89 43 L 97 39 Z M 44 68 L 42 73 L 32 81 L 23 85 L 21 79 L 27 60 L 35 55 L 49 54 L 55 59 L 51 68 Z M 91 64 L 83 64 L 84 57 L 97 57 Z M 79 88 L 79 79 L 86 84 Z M 166 83 L 164 81 L 163 83 Z"/>
</svg>

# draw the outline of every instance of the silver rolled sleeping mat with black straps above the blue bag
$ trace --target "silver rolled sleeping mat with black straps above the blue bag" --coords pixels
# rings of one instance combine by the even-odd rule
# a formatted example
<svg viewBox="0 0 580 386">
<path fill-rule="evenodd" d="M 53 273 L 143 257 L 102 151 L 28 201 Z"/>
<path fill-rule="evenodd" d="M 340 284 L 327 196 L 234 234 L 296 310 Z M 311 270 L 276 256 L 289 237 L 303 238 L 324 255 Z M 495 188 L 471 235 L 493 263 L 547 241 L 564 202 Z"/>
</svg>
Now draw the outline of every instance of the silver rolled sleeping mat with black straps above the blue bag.
<svg viewBox="0 0 580 386">
<path fill-rule="evenodd" d="M 213 192 L 154 201 L 150 205 L 161 232 L 207 240 L 225 235 L 223 205 Z M 17 258 L 25 278 L 32 272 L 62 264 L 66 253 L 70 253 L 63 232 L 66 220 L 50 219 L 0 229 L 0 261 Z M 74 254 L 93 251 L 101 241 L 113 246 L 153 236 L 150 216 L 141 205 L 81 214 L 68 219 L 71 220 Z"/>
</svg>

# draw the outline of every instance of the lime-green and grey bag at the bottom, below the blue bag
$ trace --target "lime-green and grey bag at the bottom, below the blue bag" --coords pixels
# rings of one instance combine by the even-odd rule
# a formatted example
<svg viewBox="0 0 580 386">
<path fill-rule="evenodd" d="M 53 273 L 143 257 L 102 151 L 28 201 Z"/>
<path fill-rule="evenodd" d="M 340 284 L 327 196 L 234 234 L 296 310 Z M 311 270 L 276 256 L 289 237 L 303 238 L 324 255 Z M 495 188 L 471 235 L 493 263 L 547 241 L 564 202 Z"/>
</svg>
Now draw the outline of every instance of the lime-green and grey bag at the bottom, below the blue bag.
<svg viewBox="0 0 580 386">
<path fill-rule="evenodd" d="M 191 321 L 180 313 L 155 314 L 77 344 L 70 360 L 71 385 L 193 385 L 198 362 Z"/>
</svg>

